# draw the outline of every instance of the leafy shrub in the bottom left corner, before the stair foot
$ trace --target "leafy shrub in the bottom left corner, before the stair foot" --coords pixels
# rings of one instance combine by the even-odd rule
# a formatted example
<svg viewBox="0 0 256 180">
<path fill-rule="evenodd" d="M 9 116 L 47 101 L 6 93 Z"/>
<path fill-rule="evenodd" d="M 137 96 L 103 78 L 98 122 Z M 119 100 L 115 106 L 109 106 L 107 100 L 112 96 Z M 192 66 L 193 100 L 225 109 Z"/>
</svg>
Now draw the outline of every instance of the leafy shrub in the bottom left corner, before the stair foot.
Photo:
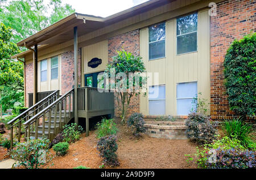
<svg viewBox="0 0 256 180">
<path fill-rule="evenodd" d="M 38 168 L 46 164 L 49 140 L 46 138 L 27 140 L 24 143 L 16 144 L 15 149 L 11 151 L 11 157 L 18 161 L 18 166 L 24 166 L 27 169 Z"/>
</svg>

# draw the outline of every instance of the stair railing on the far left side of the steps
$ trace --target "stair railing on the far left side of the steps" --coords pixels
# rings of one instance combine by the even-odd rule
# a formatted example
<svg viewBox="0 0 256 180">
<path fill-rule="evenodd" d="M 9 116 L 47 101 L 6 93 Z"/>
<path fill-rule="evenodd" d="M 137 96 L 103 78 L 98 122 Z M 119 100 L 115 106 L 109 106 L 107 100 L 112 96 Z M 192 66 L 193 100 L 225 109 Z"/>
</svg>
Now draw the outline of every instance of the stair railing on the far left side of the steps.
<svg viewBox="0 0 256 180">
<path fill-rule="evenodd" d="M 7 122 L 7 125 L 10 125 L 10 143 L 11 143 L 10 149 L 13 149 L 13 138 L 14 138 L 13 128 L 18 125 L 18 142 L 20 142 L 22 122 L 27 121 L 31 116 L 34 116 L 35 114 L 37 114 L 39 110 L 48 106 L 49 102 L 55 101 L 57 98 L 59 98 L 60 96 L 59 92 L 60 92 L 59 90 L 52 92 L 51 95 L 43 98 L 43 100 L 37 102 L 31 108 L 28 108 L 26 111 L 19 114 L 15 118 L 11 119 L 11 121 Z"/>
</svg>

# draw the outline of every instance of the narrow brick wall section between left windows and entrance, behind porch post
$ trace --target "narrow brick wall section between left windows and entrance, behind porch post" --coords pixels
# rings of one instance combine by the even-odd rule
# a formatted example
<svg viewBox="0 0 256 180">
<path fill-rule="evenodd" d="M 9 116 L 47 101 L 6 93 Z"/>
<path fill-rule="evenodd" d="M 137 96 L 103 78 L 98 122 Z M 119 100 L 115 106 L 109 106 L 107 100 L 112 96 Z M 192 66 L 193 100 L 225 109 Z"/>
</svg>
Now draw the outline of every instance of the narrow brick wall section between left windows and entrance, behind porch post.
<svg viewBox="0 0 256 180">
<path fill-rule="evenodd" d="M 81 86 L 81 49 L 78 50 L 78 84 Z M 69 51 L 61 54 L 61 93 L 64 95 L 71 90 L 74 85 L 74 52 Z"/>
</svg>

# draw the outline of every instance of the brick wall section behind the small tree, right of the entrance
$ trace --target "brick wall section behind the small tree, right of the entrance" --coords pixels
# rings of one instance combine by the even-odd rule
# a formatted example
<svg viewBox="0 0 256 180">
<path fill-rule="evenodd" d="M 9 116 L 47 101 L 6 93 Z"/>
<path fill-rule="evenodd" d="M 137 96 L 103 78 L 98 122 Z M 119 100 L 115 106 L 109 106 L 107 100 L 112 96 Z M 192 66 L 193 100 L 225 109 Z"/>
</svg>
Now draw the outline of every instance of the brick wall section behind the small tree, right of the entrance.
<svg viewBox="0 0 256 180">
<path fill-rule="evenodd" d="M 126 50 L 127 52 L 132 53 L 133 55 L 139 55 L 139 30 L 131 31 L 124 33 L 119 36 L 109 38 L 108 41 L 108 56 L 109 61 L 112 61 L 112 57 L 117 55 L 117 51 Z M 117 93 L 114 96 L 114 109 L 115 117 L 120 117 L 122 113 L 122 102 L 121 97 L 119 97 L 119 106 L 117 101 Z M 127 109 L 127 116 L 132 113 L 139 113 L 139 96 L 133 96 L 130 101 L 130 105 Z"/>
</svg>

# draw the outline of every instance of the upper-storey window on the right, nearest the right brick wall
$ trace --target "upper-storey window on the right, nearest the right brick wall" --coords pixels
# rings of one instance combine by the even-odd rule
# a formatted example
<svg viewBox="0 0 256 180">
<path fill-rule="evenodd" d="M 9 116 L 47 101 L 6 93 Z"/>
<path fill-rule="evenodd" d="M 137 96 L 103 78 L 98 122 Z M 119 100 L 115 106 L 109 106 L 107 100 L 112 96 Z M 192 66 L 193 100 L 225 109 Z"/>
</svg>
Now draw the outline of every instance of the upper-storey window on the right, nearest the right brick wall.
<svg viewBox="0 0 256 180">
<path fill-rule="evenodd" d="M 177 54 L 197 51 L 197 13 L 177 18 Z"/>
</svg>

